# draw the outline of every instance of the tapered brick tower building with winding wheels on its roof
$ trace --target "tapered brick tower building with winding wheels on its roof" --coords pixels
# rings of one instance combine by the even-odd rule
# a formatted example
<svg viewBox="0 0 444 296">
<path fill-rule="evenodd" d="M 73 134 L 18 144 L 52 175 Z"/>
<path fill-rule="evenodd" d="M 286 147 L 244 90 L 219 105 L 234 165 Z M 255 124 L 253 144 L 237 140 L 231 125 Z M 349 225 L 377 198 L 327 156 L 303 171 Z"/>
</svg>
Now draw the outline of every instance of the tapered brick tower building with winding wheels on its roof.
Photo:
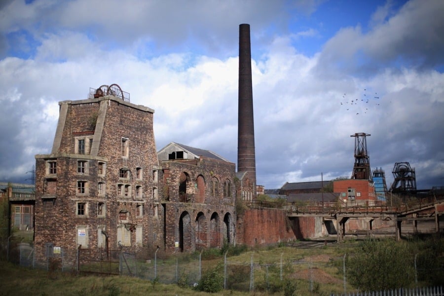
<svg viewBox="0 0 444 296">
<path fill-rule="evenodd" d="M 37 258 L 57 246 L 141 249 L 162 241 L 152 235 L 164 221 L 163 213 L 153 215 L 160 169 L 154 111 L 99 90 L 59 103 L 51 154 L 36 155 Z"/>
</svg>

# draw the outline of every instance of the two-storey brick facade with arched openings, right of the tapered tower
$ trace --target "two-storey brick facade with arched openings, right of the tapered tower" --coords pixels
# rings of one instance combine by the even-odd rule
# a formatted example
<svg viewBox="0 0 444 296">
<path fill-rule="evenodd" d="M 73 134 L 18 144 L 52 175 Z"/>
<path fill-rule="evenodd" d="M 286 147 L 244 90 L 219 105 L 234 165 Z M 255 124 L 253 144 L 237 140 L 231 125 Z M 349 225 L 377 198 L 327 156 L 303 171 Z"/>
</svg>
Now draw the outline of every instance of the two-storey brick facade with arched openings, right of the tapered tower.
<svg viewBox="0 0 444 296">
<path fill-rule="evenodd" d="M 235 240 L 235 164 L 200 156 L 162 161 L 165 249 L 194 251 Z"/>
</svg>

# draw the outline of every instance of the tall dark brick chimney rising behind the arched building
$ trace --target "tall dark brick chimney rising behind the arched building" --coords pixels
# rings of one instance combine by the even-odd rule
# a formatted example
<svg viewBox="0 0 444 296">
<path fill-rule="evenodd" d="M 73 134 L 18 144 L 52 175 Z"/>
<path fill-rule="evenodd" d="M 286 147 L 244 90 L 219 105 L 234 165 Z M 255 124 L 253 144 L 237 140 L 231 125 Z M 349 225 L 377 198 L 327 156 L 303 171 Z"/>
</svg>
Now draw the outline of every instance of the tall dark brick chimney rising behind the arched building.
<svg viewBox="0 0 444 296">
<path fill-rule="evenodd" d="M 250 25 L 239 25 L 239 109 L 237 134 L 237 171 L 247 172 L 256 195 L 255 126 L 251 78 Z"/>
</svg>

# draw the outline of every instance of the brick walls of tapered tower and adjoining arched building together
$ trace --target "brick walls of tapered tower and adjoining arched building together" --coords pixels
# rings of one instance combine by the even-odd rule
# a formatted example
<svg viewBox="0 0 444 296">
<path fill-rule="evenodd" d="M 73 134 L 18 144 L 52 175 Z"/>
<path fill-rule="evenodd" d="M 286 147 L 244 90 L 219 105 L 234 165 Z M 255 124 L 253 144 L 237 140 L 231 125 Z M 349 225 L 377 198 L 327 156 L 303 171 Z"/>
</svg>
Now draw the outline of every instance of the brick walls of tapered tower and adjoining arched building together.
<svg viewBox="0 0 444 296">
<path fill-rule="evenodd" d="M 36 155 L 37 260 L 54 247 L 171 253 L 235 242 L 234 163 L 159 165 L 154 111 L 114 96 L 59 105 L 51 154 Z"/>
</svg>

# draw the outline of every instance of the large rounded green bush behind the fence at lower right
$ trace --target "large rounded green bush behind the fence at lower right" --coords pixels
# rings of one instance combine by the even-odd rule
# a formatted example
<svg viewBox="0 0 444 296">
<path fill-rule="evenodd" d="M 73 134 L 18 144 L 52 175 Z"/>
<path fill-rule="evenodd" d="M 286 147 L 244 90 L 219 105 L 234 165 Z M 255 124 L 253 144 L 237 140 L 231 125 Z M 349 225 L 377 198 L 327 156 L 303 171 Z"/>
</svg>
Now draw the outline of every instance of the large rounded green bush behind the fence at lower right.
<svg viewBox="0 0 444 296">
<path fill-rule="evenodd" d="M 366 240 L 347 262 L 350 283 L 363 291 L 408 287 L 414 264 L 406 244 L 393 240 Z"/>
</svg>

